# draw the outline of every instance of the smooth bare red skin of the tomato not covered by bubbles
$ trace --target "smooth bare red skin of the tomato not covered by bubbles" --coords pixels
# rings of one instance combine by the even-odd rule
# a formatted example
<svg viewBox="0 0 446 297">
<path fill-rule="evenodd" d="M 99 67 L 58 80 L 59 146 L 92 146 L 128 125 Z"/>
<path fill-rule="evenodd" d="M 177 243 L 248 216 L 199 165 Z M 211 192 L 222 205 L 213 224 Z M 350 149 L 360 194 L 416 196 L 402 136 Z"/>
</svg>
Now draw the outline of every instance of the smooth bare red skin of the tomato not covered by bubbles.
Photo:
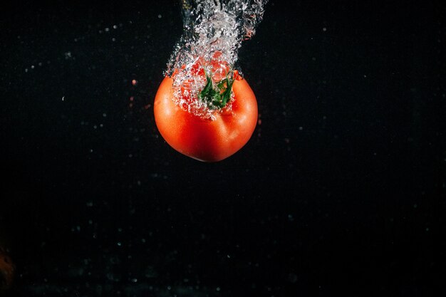
<svg viewBox="0 0 446 297">
<path fill-rule="evenodd" d="M 171 147 L 200 161 L 217 162 L 248 142 L 258 113 L 256 97 L 245 79 L 232 85 L 232 112 L 217 114 L 216 120 L 199 118 L 175 105 L 172 83 L 169 77 L 162 80 L 153 105 L 155 123 Z"/>
</svg>

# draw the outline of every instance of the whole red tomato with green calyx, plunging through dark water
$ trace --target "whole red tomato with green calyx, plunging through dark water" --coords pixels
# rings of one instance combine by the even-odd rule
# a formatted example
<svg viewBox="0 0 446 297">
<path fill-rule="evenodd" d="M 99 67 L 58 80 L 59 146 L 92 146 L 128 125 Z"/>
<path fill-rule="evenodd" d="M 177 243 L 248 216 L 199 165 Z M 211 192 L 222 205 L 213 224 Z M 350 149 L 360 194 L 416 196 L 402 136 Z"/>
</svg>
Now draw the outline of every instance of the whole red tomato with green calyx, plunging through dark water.
<svg viewBox="0 0 446 297">
<path fill-rule="evenodd" d="M 183 155 L 217 162 L 249 140 L 257 102 L 247 80 L 214 53 L 167 75 L 157 90 L 155 123 L 166 142 Z"/>
</svg>

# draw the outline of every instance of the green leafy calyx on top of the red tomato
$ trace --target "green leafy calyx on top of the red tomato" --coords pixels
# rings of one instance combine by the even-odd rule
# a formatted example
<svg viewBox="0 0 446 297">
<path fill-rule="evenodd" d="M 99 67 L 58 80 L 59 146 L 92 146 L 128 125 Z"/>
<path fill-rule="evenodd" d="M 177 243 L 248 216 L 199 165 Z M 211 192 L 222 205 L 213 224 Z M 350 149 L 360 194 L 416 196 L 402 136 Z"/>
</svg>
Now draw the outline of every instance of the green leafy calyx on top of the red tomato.
<svg viewBox="0 0 446 297">
<path fill-rule="evenodd" d="M 200 100 L 204 100 L 212 110 L 224 108 L 224 106 L 226 106 L 231 99 L 232 84 L 234 83 L 234 79 L 227 76 L 226 78 L 220 80 L 217 83 L 216 90 L 212 84 L 211 76 L 212 75 L 206 75 L 206 85 L 198 94 L 198 98 Z"/>
</svg>

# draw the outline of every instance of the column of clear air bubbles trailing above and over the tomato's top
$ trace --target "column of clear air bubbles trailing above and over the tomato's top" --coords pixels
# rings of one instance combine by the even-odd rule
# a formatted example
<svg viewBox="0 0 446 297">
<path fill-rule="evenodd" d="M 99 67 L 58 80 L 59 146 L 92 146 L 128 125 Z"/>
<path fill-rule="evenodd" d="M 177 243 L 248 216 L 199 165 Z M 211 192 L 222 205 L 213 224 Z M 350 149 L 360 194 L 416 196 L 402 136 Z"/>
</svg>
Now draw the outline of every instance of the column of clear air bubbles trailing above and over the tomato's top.
<svg viewBox="0 0 446 297">
<path fill-rule="evenodd" d="M 268 0 L 180 0 L 184 33 L 177 43 L 165 75 L 173 78 L 174 101 L 202 118 L 231 110 L 234 94 L 224 108 L 214 108 L 200 98 L 212 79 L 215 92 L 223 83 L 239 78 L 237 53 L 242 41 L 254 36 Z M 223 87 L 224 88 L 224 87 Z"/>
</svg>

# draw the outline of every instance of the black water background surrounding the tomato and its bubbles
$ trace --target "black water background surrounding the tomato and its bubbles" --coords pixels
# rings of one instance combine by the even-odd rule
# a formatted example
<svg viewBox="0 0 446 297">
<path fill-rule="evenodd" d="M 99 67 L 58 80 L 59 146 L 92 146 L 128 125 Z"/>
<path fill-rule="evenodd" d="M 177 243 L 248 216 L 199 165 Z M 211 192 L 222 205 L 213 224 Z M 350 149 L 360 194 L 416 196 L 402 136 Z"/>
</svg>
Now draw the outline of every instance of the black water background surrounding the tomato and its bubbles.
<svg viewBox="0 0 446 297">
<path fill-rule="evenodd" d="M 261 125 L 206 164 L 155 127 L 159 2 L 1 9 L 6 296 L 444 296 L 445 5 L 271 0 Z"/>
</svg>

